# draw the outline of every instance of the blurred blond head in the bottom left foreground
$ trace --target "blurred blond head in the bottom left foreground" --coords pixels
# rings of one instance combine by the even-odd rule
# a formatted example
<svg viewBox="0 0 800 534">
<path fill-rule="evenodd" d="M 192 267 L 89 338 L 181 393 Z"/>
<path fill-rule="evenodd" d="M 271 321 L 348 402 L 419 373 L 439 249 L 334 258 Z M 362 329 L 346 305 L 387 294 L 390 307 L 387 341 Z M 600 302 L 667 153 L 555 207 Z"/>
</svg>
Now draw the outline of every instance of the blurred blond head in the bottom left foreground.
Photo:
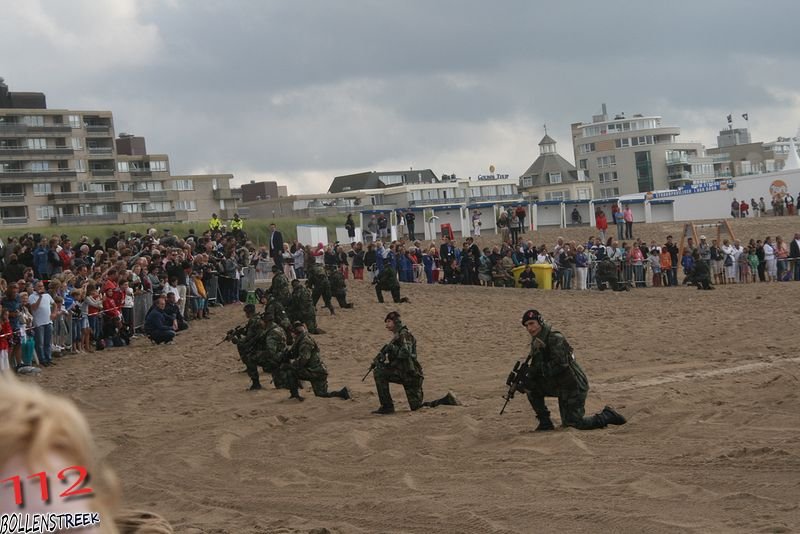
<svg viewBox="0 0 800 534">
<path fill-rule="evenodd" d="M 98 458 L 89 425 L 71 401 L 38 386 L 23 384 L 13 375 L 0 375 L 0 473 L 6 477 L 18 475 L 24 480 L 28 474 L 45 471 L 51 481 L 49 504 L 42 503 L 38 492 L 26 487 L 24 508 L 0 512 L 91 511 L 100 514 L 100 524 L 90 529 L 93 533 L 171 533 L 169 523 L 156 514 L 116 513 L 119 484 Z M 56 475 L 73 465 L 86 469 L 89 476 L 85 485 L 92 488 L 92 496 L 62 502 Z"/>
</svg>

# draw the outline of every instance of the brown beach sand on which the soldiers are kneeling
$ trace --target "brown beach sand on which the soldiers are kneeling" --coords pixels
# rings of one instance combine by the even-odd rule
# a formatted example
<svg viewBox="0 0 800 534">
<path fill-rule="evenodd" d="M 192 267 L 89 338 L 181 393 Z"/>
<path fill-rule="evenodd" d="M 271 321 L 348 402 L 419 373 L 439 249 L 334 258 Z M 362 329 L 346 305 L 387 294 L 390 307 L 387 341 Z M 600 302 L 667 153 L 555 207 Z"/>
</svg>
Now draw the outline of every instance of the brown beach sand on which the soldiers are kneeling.
<svg viewBox="0 0 800 534">
<path fill-rule="evenodd" d="M 798 221 L 778 231 L 791 238 Z M 737 237 L 774 235 L 767 225 L 743 222 Z M 640 232 L 662 241 L 681 227 Z M 592 229 L 534 240 L 570 232 Z M 348 386 L 350 401 L 246 391 L 235 347 L 214 346 L 243 322 L 236 305 L 174 346 L 139 338 L 64 356 L 35 380 L 87 415 L 126 505 L 177 532 L 800 530 L 800 283 L 628 293 L 404 284 L 411 303 L 401 305 L 378 304 L 366 282 L 349 286 L 355 308 L 320 312 L 328 333 L 316 339 L 331 389 Z M 528 308 L 574 347 L 587 412 L 610 404 L 627 425 L 534 433 L 523 395 L 498 415 L 530 344 Z M 360 380 L 395 309 L 417 338 L 426 398 L 449 390 L 463 406 L 411 413 L 393 386 L 398 412 L 370 414 L 374 384 Z"/>
</svg>

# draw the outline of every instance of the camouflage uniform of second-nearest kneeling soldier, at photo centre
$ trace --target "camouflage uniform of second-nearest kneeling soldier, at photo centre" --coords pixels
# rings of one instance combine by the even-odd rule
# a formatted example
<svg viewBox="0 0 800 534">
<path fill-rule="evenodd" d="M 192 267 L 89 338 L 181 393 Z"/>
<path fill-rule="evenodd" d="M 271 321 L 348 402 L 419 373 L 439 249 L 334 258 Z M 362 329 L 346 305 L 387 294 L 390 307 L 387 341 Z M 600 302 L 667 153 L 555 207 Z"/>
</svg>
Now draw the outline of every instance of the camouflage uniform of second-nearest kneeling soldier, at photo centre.
<svg viewBox="0 0 800 534">
<path fill-rule="evenodd" d="M 385 272 L 386 268 L 384 268 Z M 381 352 L 375 357 L 375 387 L 378 390 L 378 399 L 381 408 L 394 410 L 389 384 L 402 384 L 406 390 L 408 404 L 412 410 L 422 406 L 422 366 L 417 360 L 417 340 L 408 331 L 408 328 L 395 321 L 395 334 L 392 340 L 383 346 Z"/>
</svg>

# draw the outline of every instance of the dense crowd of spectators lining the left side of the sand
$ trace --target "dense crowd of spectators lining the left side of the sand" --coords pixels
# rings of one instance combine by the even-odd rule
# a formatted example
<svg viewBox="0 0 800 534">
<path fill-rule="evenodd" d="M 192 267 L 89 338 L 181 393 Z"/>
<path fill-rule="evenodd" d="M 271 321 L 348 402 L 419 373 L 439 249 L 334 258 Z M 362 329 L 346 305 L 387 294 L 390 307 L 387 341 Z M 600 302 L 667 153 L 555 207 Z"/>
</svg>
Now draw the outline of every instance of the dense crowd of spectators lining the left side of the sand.
<svg viewBox="0 0 800 534">
<path fill-rule="evenodd" d="M 0 250 L 0 370 L 38 372 L 56 365 L 54 356 L 125 346 L 141 334 L 170 342 L 209 318 L 209 301 L 238 303 L 242 269 L 257 258 L 241 231 L 10 237 Z M 141 324 L 137 301 L 152 302 Z"/>
</svg>

